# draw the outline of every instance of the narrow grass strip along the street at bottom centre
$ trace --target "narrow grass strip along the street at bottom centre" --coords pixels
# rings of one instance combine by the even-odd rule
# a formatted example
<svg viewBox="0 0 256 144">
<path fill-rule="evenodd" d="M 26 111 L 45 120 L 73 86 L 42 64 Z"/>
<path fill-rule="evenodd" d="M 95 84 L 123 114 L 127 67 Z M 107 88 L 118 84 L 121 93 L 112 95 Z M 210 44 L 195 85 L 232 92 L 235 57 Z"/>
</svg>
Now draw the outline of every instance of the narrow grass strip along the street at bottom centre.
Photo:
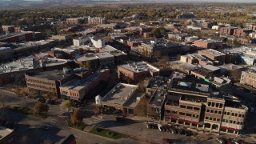
<svg viewBox="0 0 256 144">
<path fill-rule="evenodd" d="M 90 130 L 91 134 L 97 134 L 102 137 L 106 138 L 112 138 L 112 139 L 118 139 L 118 138 L 127 138 L 128 136 L 126 134 L 114 132 L 112 130 L 106 130 L 101 128 L 93 128 Z"/>
</svg>

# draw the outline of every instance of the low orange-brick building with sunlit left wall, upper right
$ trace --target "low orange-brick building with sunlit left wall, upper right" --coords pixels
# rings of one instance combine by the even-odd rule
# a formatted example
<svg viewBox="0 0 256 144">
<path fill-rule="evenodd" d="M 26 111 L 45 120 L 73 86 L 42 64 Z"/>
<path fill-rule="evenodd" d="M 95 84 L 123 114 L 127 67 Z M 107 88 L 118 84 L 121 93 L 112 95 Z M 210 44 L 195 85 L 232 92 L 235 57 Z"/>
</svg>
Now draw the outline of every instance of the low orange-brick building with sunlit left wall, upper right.
<svg viewBox="0 0 256 144">
<path fill-rule="evenodd" d="M 221 41 L 214 41 L 214 40 L 197 40 L 194 41 L 194 45 L 206 49 L 222 49 L 222 42 Z"/>
</svg>

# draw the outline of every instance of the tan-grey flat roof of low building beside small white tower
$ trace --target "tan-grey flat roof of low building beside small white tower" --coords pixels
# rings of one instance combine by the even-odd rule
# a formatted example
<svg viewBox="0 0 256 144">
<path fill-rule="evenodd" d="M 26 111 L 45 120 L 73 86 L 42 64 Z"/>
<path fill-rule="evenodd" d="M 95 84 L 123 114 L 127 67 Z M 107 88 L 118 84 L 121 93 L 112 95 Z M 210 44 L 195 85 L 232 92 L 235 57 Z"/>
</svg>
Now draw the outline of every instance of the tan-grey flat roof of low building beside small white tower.
<svg viewBox="0 0 256 144">
<path fill-rule="evenodd" d="M 102 102 L 123 106 L 138 86 L 125 83 L 118 83 L 108 94 L 102 98 Z"/>
</svg>

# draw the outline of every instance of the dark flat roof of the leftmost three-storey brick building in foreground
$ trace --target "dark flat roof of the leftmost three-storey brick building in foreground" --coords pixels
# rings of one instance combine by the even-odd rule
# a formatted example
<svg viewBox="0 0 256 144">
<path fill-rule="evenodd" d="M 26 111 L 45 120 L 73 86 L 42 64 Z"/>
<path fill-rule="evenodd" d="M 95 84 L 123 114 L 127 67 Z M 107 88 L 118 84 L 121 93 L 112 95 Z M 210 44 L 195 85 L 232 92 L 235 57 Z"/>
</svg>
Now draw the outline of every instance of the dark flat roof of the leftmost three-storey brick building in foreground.
<svg viewBox="0 0 256 144">
<path fill-rule="evenodd" d="M 70 76 L 70 74 L 64 74 L 63 70 L 48 70 L 38 73 L 26 73 L 31 77 L 46 78 L 54 81 L 59 81 Z"/>
</svg>

